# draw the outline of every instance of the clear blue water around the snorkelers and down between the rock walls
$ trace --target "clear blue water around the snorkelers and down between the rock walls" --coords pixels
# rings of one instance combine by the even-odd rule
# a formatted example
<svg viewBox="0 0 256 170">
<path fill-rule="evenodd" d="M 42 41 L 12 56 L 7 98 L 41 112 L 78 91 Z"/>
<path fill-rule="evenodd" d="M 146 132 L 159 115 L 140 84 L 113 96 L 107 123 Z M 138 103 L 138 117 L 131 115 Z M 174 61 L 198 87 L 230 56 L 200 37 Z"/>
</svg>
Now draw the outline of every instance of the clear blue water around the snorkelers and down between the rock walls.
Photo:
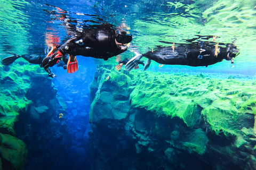
<svg viewBox="0 0 256 170">
<path fill-rule="evenodd" d="M 146 53 L 156 46 L 166 46 L 160 41 L 183 43 L 195 35 L 217 35 L 220 42 L 231 43 L 237 38 L 241 54 L 235 63 L 223 61 L 208 67 L 165 65 L 159 68 L 152 63 L 152 72 L 207 73 L 213 77 L 230 74 L 255 78 L 256 74 L 256 3 L 255 1 L 11 1 L 0 0 L 0 57 L 11 54 L 44 54 L 47 35 L 51 34 L 65 41 L 69 31 L 61 21 L 62 10 L 68 18 L 92 24 L 84 20 L 106 22 L 118 26 L 129 25 L 133 35 L 131 48 Z M 86 15 L 82 15 L 86 14 Z M 92 16 L 97 15 L 97 17 Z M 68 106 L 68 128 L 72 134 L 67 169 L 89 169 L 85 159 L 87 135 L 90 131 L 90 84 L 99 64 L 116 65 L 120 58 L 132 58 L 131 48 L 108 61 L 78 56 L 79 71 L 67 74 L 60 67 L 53 67 L 58 75 L 53 79 L 58 94 Z M 145 60 L 145 59 L 143 59 Z M 22 58 L 19 62 L 22 62 Z M 142 68 L 140 68 L 142 69 Z M 79 101 L 83 100 L 83 105 Z M 31 158 L 31 157 L 29 157 Z M 26 164 L 29 169 L 29 160 Z"/>
</svg>

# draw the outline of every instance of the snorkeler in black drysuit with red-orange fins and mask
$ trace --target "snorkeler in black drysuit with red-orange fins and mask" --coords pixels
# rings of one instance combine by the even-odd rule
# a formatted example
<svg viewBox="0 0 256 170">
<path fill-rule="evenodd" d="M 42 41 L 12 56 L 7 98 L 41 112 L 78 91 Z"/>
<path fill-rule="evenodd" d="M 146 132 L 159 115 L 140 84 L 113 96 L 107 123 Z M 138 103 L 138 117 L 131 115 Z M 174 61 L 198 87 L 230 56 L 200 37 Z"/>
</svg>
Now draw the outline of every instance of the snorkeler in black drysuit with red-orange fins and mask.
<svg viewBox="0 0 256 170">
<path fill-rule="evenodd" d="M 77 32 L 54 54 L 45 57 L 42 65 L 47 71 L 47 68 L 55 65 L 63 55 L 69 54 L 67 71 L 74 73 L 78 70 L 76 55 L 108 60 L 125 52 L 131 41 L 132 35 L 126 35 L 125 30 L 116 30 L 110 24 L 94 25 L 93 28 Z"/>
</svg>

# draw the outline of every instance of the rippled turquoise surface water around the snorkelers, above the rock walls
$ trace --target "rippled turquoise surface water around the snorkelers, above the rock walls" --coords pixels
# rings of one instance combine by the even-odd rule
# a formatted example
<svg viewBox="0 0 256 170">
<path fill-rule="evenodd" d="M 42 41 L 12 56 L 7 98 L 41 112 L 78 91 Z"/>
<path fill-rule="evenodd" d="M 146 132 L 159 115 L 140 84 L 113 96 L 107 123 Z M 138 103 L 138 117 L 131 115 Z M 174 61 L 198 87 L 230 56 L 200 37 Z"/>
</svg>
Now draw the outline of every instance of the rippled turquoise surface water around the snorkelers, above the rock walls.
<svg viewBox="0 0 256 170">
<path fill-rule="evenodd" d="M 217 71 L 235 74 L 255 74 L 255 2 L 254 1 L 1 1 L 1 45 L 0 53 L 31 54 L 42 53 L 47 47 L 47 34 L 67 38 L 65 22 L 59 20 L 62 10 L 68 18 L 80 21 L 97 20 L 82 15 L 93 14 L 116 26 L 125 23 L 133 35 L 131 48 L 146 53 L 156 46 L 166 46 L 160 41 L 185 43 L 195 35 L 218 36 L 218 42 L 236 45 L 241 54 L 235 63 L 224 61 L 204 69 L 203 67 L 167 66 L 155 71 L 181 70 Z M 79 5 L 77 5 L 79 4 Z M 59 8 L 57 8 L 59 7 Z M 168 46 L 168 45 L 167 45 Z M 130 49 L 131 49 L 130 48 Z M 131 58 L 132 52 L 118 57 Z M 100 64 L 116 64 L 115 57 L 108 62 L 95 60 Z M 144 59 L 146 60 L 146 59 Z"/>
</svg>

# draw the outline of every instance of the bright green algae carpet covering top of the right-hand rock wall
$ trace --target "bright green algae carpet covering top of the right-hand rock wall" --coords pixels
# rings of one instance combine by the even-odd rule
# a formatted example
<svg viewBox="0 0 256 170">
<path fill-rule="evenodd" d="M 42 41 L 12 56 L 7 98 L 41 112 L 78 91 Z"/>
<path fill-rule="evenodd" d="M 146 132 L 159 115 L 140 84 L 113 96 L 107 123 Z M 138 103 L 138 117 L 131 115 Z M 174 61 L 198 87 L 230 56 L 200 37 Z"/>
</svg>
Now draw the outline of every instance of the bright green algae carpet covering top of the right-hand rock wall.
<svg viewBox="0 0 256 170">
<path fill-rule="evenodd" d="M 129 88 L 133 107 L 179 117 L 190 127 L 203 118 L 205 125 L 216 134 L 238 135 L 244 126 L 248 126 L 239 121 L 246 114 L 255 114 L 256 86 L 250 80 L 209 78 L 204 74 L 100 70 L 104 73 L 98 78 L 98 83 L 102 83 L 98 91 L 109 88 L 105 83 L 110 82 L 115 88 L 113 95 L 122 94 Z M 127 82 L 119 86 L 116 81 L 121 80 Z M 98 95 L 100 97 L 100 92 Z M 194 145 L 187 143 L 187 146 L 193 148 Z"/>
</svg>

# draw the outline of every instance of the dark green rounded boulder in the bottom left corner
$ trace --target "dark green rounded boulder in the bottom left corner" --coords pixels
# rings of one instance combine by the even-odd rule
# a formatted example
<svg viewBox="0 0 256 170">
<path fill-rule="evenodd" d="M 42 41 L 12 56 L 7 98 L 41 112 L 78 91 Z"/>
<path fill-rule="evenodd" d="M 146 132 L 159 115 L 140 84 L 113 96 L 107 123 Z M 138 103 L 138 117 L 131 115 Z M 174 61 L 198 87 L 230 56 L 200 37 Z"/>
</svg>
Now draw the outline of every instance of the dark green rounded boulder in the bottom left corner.
<svg viewBox="0 0 256 170">
<path fill-rule="evenodd" d="M 0 133 L 2 169 L 23 169 L 27 158 L 25 143 L 9 134 Z"/>
</svg>

